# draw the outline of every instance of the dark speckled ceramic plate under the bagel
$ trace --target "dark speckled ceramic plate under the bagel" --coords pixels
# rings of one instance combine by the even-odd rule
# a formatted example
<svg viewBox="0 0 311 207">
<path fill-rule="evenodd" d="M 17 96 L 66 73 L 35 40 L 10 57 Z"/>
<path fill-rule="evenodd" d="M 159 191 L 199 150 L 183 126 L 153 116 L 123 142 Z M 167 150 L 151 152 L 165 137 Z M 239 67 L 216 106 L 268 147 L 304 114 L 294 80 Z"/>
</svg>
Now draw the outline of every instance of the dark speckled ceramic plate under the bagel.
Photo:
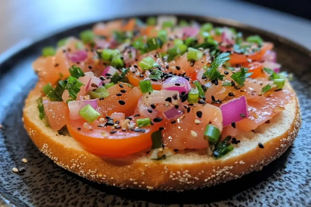
<svg viewBox="0 0 311 207">
<path fill-rule="evenodd" d="M 179 193 L 107 187 L 58 167 L 28 137 L 21 122 L 22 107 L 37 80 L 31 63 L 39 56 L 42 47 L 55 45 L 58 39 L 77 35 L 93 24 L 82 25 L 26 47 L 21 46 L 18 52 L 8 57 L 2 55 L 0 194 L 6 199 L 5 202 L 16 206 L 311 206 L 311 52 L 275 34 L 232 21 L 200 16 L 179 15 L 179 18 L 233 26 L 245 35 L 259 34 L 275 44 L 283 70 L 294 74 L 292 85 L 302 112 L 302 126 L 293 146 L 261 172 L 253 172 L 215 187 Z M 24 157 L 29 160 L 27 164 L 21 162 Z M 12 167 L 23 170 L 13 173 Z"/>
</svg>

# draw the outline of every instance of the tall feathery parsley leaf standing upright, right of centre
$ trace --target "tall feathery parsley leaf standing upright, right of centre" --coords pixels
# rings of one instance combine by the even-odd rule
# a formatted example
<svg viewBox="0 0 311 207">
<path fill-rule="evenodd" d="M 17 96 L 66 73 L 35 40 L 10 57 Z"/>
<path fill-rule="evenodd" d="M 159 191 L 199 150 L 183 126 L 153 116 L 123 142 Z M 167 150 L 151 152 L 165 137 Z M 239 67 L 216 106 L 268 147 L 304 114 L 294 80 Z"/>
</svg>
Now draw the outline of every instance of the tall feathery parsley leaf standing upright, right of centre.
<svg viewBox="0 0 311 207">
<path fill-rule="evenodd" d="M 213 62 L 211 63 L 210 67 L 207 68 L 207 71 L 204 73 L 205 76 L 209 77 L 210 80 L 217 80 L 224 77 L 224 75 L 221 75 L 218 71 L 218 67 L 223 64 L 225 61 L 230 60 L 229 52 L 221 53 L 219 56 L 217 56 Z"/>
</svg>

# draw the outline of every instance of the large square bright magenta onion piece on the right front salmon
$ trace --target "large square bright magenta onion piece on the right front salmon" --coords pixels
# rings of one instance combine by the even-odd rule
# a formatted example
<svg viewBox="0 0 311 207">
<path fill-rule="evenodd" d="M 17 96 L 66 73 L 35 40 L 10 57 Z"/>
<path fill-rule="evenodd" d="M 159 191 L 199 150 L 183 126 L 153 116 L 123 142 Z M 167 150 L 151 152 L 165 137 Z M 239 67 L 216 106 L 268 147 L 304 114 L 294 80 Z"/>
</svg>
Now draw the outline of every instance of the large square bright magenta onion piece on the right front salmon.
<svg viewBox="0 0 311 207">
<path fill-rule="evenodd" d="M 222 113 L 222 124 L 227 126 L 232 122 L 238 122 L 248 117 L 247 101 L 245 96 L 232 99 L 231 101 L 220 106 Z M 241 117 L 241 114 L 244 117 Z"/>
</svg>

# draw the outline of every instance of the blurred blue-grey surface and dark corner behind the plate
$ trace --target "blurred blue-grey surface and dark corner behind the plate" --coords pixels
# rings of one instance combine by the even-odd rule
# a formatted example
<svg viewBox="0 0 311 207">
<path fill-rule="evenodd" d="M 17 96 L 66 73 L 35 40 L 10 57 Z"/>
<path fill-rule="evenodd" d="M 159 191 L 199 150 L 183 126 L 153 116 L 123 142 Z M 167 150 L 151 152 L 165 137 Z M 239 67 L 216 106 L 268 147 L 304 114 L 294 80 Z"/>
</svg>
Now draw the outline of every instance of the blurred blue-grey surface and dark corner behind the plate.
<svg viewBox="0 0 311 207">
<path fill-rule="evenodd" d="M 119 16 L 179 13 L 226 18 L 266 29 L 311 49 L 311 1 L 0 0 L 0 54 L 68 27 Z"/>
</svg>

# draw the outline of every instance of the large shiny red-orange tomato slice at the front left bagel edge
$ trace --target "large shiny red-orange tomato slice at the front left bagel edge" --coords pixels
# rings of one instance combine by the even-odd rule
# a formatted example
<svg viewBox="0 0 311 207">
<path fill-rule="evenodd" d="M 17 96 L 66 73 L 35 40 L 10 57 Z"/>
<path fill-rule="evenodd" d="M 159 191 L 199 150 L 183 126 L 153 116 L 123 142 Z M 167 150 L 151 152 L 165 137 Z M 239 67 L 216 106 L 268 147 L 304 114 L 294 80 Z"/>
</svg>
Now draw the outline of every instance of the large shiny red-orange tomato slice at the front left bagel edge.
<svg viewBox="0 0 311 207">
<path fill-rule="evenodd" d="M 152 144 L 151 133 L 158 130 L 154 125 L 145 128 L 145 132 L 123 132 L 121 129 L 111 129 L 110 126 L 97 127 L 98 121 L 92 123 L 93 130 L 87 130 L 83 128 L 83 123 L 86 122 L 84 119 L 72 120 L 68 112 L 66 122 L 70 135 L 87 151 L 109 157 L 122 157 L 147 149 Z M 117 132 L 110 133 L 111 130 Z"/>
</svg>

